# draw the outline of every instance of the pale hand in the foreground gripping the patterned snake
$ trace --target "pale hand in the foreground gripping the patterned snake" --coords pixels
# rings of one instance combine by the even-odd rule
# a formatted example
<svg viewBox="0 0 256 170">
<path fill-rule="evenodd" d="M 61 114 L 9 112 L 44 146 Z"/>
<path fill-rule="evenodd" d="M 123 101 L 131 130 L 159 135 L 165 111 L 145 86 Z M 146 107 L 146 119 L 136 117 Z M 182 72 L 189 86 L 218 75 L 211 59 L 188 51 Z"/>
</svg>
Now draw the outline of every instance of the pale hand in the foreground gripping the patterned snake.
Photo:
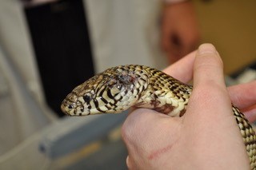
<svg viewBox="0 0 256 170">
<path fill-rule="evenodd" d="M 128 168 L 250 168 L 230 105 L 229 92 L 238 89 L 226 89 L 222 61 L 214 46 L 201 45 L 196 57 L 193 55 L 165 70 L 189 81 L 194 69 L 194 89 L 183 117 L 168 117 L 150 109 L 137 109 L 127 117 L 122 137 L 129 152 Z M 191 73 L 183 77 L 181 68 Z"/>
</svg>

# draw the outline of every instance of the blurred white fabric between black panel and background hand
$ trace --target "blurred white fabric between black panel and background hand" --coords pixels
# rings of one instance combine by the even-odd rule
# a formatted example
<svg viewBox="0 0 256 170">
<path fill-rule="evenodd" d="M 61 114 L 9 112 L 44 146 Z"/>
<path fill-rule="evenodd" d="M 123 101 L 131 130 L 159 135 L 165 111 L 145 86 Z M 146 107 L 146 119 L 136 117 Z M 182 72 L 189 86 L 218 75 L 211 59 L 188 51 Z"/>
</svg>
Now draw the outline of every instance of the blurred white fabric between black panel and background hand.
<svg viewBox="0 0 256 170">
<path fill-rule="evenodd" d="M 159 0 L 85 2 L 98 72 L 114 65 L 166 65 L 158 42 Z"/>
</svg>

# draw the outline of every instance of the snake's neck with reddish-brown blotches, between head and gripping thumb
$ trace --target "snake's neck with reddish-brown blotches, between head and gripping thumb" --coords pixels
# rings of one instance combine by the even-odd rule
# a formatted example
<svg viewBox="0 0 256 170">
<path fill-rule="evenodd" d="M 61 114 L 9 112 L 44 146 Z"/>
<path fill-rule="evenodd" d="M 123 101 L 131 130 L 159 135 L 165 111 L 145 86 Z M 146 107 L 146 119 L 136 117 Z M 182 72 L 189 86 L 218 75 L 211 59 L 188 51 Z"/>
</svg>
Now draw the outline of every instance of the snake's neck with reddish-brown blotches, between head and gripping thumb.
<svg viewBox="0 0 256 170">
<path fill-rule="evenodd" d="M 192 86 L 156 69 L 150 69 L 149 80 L 147 89 L 134 106 L 154 109 L 170 117 L 182 117 L 186 112 Z"/>
</svg>

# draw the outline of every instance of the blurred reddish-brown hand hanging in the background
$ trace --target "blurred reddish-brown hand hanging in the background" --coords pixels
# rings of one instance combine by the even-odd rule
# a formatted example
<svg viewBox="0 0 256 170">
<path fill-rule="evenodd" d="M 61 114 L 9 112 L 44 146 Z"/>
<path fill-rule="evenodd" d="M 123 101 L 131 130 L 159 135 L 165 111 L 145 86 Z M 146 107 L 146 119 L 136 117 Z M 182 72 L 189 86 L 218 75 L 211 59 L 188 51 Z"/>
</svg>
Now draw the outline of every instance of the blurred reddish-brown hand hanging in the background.
<svg viewBox="0 0 256 170">
<path fill-rule="evenodd" d="M 199 41 L 198 24 L 192 2 L 166 5 L 162 10 L 162 49 L 170 63 L 190 53 Z"/>
</svg>

